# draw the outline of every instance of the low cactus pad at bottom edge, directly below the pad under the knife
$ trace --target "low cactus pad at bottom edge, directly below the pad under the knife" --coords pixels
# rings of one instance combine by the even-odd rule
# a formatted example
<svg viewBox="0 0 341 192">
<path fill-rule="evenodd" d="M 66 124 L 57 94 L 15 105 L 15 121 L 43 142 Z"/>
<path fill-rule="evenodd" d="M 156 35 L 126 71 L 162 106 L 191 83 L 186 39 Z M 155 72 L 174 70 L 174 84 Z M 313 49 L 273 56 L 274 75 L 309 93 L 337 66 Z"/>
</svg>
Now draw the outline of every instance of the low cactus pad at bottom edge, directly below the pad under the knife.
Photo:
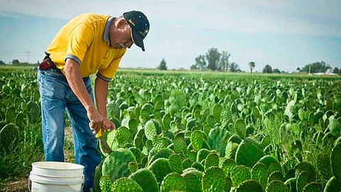
<svg viewBox="0 0 341 192">
<path fill-rule="evenodd" d="M 119 178 L 117 179 L 113 186 L 113 191 L 115 192 L 144 192 L 144 190 L 139 186 L 139 183 L 136 183 L 131 178 Z"/>
</svg>

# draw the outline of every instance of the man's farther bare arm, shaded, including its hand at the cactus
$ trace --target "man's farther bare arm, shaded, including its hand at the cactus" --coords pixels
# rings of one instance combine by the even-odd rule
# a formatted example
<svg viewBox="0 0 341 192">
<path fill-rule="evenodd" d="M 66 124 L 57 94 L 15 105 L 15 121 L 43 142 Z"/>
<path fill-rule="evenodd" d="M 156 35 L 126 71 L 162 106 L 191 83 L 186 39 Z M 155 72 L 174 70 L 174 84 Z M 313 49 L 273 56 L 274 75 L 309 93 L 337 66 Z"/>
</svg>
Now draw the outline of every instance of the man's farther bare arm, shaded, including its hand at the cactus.
<svg viewBox="0 0 341 192">
<path fill-rule="evenodd" d="M 109 82 L 97 77 L 94 82 L 94 95 L 96 98 L 97 110 L 104 118 L 104 129 L 116 129 L 115 124 L 107 119 L 108 87 Z"/>
</svg>

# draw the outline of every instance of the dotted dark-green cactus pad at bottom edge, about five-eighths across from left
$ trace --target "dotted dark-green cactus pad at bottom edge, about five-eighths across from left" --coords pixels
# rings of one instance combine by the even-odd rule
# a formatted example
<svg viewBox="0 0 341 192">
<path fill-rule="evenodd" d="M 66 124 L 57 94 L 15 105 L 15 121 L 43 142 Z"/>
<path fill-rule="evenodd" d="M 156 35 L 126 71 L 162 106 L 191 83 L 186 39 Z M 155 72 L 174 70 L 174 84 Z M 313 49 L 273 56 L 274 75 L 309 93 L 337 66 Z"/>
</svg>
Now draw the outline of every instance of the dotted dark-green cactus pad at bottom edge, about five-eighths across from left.
<svg viewBox="0 0 341 192">
<path fill-rule="evenodd" d="M 224 171 L 219 167 L 211 167 L 202 176 L 202 191 L 223 191 L 226 187 Z"/>
</svg>

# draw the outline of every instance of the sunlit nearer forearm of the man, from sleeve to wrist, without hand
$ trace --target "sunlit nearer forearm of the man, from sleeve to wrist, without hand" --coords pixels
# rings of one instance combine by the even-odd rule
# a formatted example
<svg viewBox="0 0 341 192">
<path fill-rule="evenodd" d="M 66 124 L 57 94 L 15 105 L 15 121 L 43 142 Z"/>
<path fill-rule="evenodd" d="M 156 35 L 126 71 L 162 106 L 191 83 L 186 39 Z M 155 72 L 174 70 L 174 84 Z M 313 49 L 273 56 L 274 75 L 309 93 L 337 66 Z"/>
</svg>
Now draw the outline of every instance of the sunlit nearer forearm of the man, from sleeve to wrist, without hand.
<svg viewBox="0 0 341 192">
<path fill-rule="evenodd" d="M 80 66 L 72 59 L 67 59 L 63 70 L 67 82 L 69 83 L 71 90 L 75 93 L 77 98 L 82 102 L 87 112 L 96 110 L 94 102 L 92 102 L 87 88 L 80 75 Z"/>
</svg>

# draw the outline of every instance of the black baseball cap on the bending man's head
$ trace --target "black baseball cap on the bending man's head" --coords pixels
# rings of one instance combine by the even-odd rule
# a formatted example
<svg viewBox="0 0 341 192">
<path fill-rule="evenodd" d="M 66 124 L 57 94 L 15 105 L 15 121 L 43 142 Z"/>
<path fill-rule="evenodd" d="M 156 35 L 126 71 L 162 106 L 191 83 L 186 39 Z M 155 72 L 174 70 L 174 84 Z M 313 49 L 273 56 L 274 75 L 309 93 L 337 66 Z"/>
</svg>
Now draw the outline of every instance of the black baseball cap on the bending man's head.
<svg viewBox="0 0 341 192">
<path fill-rule="evenodd" d="M 131 39 L 144 51 L 144 38 L 149 31 L 149 21 L 141 11 L 129 11 L 123 14 L 131 27 Z"/>
</svg>

